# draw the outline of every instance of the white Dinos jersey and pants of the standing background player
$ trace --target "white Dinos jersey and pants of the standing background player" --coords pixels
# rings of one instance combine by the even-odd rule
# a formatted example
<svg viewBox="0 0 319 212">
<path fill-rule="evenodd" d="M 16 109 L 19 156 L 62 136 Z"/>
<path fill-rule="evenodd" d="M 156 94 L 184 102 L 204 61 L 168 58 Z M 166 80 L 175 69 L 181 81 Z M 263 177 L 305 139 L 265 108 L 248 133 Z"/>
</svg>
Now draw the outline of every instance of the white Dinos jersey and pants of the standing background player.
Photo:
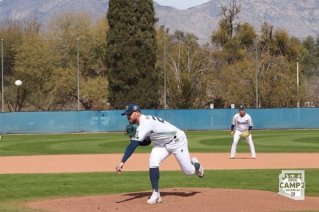
<svg viewBox="0 0 319 212">
<path fill-rule="evenodd" d="M 244 131 L 248 130 L 249 126 L 253 126 L 254 124 L 252 121 L 252 117 L 250 117 L 250 115 L 248 115 L 247 113 L 245 113 L 245 115 L 243 117 L 241 117 L 240 114 L 237 113 L 233 117 L 233 121 L 231 124 L 235 125 L 236 131 L 234 133 L 234 141 L 233 141 L 232 149 L 230 152 L 230 157 L 235 157 L 237 143 L 239 141 L 241 134 Z M 252 139 L 252 134 L 249 134 L 249 136 L 246 137 L 246 140 L 249 144 L 249 148 L 250 148 L 250 152 L 252 153 L 252 157 L 255 158 L 256 152 L 255 152 L 255 146 L 254 146 L 253 139 Z"/>
</svg>

